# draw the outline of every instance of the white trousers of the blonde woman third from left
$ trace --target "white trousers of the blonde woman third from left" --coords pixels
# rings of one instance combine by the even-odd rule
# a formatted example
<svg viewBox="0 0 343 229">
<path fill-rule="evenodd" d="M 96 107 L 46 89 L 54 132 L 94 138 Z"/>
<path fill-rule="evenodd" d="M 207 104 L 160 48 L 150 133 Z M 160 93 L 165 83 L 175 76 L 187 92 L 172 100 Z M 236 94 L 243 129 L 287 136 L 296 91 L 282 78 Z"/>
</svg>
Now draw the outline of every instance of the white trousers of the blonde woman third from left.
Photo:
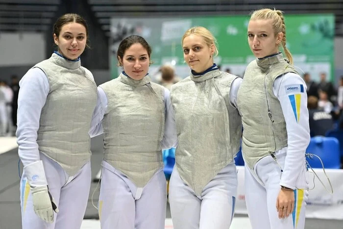
<svg viewBox="0 0 343 229">
<path fill-rule="evenodd" d="M 196 196 L 176 167 L 169 183 L 169 203 L 174 229 L 229 229 L 235 212 L 237 169 L 225 166 Z"/>
</svg>

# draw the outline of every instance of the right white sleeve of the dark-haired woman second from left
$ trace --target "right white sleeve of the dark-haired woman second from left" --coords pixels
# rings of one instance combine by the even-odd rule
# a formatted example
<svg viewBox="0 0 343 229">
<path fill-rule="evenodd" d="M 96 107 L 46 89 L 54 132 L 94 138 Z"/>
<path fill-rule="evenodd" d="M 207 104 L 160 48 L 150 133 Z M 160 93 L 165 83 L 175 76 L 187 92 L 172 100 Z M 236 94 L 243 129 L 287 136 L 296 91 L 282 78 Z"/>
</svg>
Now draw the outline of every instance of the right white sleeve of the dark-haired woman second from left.
<svg viewBox="0 0 343 229">
<path fill-rule="evenodd" d="M 172 147 L 176 147 L 177 135 L 176 135 L 174 110 L 172 108 L 170 92 L 167 88 L 164 89 L 164 105 L 165 105 L 165 114 L 166 114 L 166 124 L 164 128 L 164 135 L 161 142 L 161 146 L 162 146 L 162 150 L 168 150 Z"/>
</svg>

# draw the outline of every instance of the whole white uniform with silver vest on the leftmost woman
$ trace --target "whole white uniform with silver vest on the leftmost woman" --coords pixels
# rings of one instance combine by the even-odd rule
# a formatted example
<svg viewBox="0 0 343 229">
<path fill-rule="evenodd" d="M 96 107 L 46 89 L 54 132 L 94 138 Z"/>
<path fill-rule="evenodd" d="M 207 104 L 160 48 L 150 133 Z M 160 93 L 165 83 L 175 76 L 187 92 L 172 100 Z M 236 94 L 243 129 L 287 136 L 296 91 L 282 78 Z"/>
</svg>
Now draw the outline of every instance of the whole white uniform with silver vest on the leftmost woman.
<svg viewBox="0 0 343 229">
<path fill-rule="evenodd" d="M 91 183 L 88 131 L 97 85 L 79 59 L 53 53 L 25 74 L 20 87 L 16 135 L 24 165 L 23 229 L 80 228 Z M 46 185 L 59 208 L 53 223 L 34 212 L 32 188 Z"/>
</svg>

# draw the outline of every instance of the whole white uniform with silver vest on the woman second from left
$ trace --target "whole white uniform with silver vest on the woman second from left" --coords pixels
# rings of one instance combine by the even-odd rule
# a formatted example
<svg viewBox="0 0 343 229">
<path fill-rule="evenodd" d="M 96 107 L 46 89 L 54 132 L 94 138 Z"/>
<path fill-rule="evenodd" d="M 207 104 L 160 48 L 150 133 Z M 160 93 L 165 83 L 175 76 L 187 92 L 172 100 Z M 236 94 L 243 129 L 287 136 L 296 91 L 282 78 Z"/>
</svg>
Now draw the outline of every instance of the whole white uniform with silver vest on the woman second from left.
<svg viewBox="0 0 343 229">
<path fill-rule="evenodd" d="M 164 229 L 162 149 L 176 143 L 169 91 L 124 73 L 98 87 L 91 136 L 104 132 L 99 218 L 102 229 Z"/>
</svg>

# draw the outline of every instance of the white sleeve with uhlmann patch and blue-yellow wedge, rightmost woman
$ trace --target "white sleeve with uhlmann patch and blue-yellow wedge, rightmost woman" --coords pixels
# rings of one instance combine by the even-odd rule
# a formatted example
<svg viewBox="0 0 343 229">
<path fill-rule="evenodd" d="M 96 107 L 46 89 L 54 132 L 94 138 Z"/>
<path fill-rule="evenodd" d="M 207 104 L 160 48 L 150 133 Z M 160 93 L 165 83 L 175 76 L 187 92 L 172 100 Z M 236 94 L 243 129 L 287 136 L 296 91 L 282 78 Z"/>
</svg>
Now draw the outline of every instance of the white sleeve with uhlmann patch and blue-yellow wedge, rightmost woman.
<svg viewBox="0 0 343 229">
<path fill-rule="evenodd" d="M 305 163 L 306 149 L 310 143 L 306 84 L 300 76 L 287 73 L 275 79 L 273 93 L 280 101 L 288 138 L 280 185 L 295 189 L 296 181 Z"/>
</svg>

